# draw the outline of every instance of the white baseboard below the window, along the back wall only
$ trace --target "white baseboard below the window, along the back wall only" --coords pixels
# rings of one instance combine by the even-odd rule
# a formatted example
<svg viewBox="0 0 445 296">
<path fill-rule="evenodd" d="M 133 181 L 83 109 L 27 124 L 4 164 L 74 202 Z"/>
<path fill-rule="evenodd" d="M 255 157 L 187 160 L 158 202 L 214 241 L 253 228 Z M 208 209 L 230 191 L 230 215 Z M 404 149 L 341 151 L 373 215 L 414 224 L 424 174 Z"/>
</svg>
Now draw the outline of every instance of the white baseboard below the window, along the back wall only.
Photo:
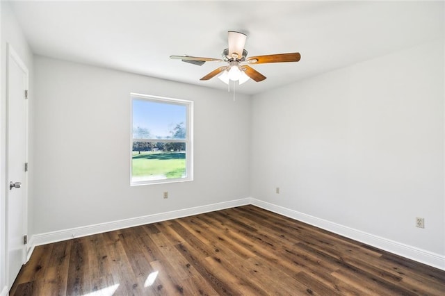
<svg viewBox="0 0 445 296">
<path fill-rule="evenodd" d="M 47 233 L 39 233 L 31 237 L 29 240 L 29 249 L 27 258 L 31 257 L 34 247 L 38 245 L 46 245 L 51 242 L 60 242 L 62 240 L 69 240 L 71 238 L 79 238 L 81 236 L 90 236 L 96 233 L 104 233 L 117 229 L 124 229 L 128 227 L 135 227 L 138 225 L 160 222 L 165 220 L 176 219 L 180 217 L 187 217 L 197 215 L 200 213 L 208 213 L 212 211 L 223 210 L 225 208 L 234 208 L 235 206 L 245 206 L 250 203 L 250 198 L 236 199 L 229 202 L 220 202 L 218 204 L 209 204 L 206 206 L 196 206 L 194 208 L 184 208 L 177 211 L 170 211 L 165 213 L 157 213 L 146 215 L 142 217 L 134 217 L 125 220 L 118 220 L 106 222 L 101 224 L 88 225 L 85 227 L 76 227 L 72 229 L 63 229 L 60 231 L 52 231 Z"/>
</svg>

